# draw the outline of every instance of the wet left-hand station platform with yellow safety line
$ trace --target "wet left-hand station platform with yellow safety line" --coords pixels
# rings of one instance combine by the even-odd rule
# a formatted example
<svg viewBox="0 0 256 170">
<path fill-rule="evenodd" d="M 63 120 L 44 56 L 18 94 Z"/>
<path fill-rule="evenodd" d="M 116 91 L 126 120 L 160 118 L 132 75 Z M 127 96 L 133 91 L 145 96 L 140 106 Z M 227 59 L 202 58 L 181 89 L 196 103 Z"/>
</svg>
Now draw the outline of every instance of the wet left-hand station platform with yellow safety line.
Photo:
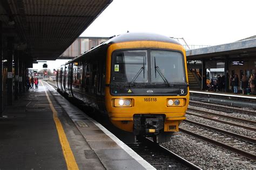
<svg viewBox="0 0 256 170">
<path fill-rule="evenodd" d="M 155 169 L 46 82 L 0 119 L 0 169 Z"/>
</svg>

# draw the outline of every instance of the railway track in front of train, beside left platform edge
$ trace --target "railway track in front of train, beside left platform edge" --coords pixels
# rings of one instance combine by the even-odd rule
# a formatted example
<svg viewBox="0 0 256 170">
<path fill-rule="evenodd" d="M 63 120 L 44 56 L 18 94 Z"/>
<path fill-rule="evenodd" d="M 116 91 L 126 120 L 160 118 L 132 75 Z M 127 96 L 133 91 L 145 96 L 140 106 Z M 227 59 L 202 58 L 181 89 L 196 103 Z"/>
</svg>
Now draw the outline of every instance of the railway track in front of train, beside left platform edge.
<svg viewBox="0 0 256 170">
<path fill-rule="evenodd" d="M 201 169 L 147 138 L 127 145 L 156 169 Z"/>
</svg>

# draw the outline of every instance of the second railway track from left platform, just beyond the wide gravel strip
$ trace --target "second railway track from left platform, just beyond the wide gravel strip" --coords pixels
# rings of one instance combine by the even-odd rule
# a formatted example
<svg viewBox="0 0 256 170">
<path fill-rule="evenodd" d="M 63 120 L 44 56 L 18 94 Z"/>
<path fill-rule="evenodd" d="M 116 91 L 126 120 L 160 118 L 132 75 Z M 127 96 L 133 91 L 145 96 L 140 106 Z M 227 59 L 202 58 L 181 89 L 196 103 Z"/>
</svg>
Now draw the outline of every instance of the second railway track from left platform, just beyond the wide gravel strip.
<svg viewBox="0 0 256 170">
<path fill-rule="evenodd" d="M 188 120 L 184 120 L 179 129 L 181 132 L 226 148 L 248 159 L 256 160 L 256 139 L 254 138 Z"/>
</svg>

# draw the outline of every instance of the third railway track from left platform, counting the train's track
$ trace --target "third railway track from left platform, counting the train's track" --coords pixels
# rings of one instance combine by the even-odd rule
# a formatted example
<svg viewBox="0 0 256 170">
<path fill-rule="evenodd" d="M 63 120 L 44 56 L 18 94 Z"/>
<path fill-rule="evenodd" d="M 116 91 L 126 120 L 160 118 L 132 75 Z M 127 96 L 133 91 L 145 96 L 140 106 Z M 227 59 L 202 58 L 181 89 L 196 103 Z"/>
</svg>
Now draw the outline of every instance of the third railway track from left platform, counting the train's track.
<svg viewBox="0 0 256 170">
<path fill-rule="evenodd" d="M 194 114 L 191 111 L 197 112 L 197 114 Z M 223 115 L 223 114 L 215 114 L 213 112 L 202 111 L 202 110 L 191 109 L 191 108 L 189 108 L 187 110 L 186 114 L 202 117 L 205 119 L 210 119 L 211 121 L 215 121 L 215 122 L 220 122 L 220 123 L 229 124 L 232 126 L 237 126 L 239 128 L 244 128 L 244 129 L 251 130 L 251 131 L 256 131 L 256 128 L 255 128 L 256 121 L 251 121 L 248 119 L 227 116 L 227 115 Z"/>
</svg>

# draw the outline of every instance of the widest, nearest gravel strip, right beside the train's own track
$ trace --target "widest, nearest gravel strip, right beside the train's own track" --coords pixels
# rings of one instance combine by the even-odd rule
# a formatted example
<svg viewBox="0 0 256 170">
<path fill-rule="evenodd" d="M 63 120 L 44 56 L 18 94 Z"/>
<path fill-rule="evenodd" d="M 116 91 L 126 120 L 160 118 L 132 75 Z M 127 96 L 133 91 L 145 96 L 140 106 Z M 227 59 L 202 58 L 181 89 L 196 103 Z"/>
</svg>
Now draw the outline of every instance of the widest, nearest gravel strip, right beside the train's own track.
<svg viewBox="0 0 256 170">
<path fill-rule="evenodd" d="M 161 145 L 203 169 L 256 168 L 256 162 L 182 132 Z"/>
</svg>

